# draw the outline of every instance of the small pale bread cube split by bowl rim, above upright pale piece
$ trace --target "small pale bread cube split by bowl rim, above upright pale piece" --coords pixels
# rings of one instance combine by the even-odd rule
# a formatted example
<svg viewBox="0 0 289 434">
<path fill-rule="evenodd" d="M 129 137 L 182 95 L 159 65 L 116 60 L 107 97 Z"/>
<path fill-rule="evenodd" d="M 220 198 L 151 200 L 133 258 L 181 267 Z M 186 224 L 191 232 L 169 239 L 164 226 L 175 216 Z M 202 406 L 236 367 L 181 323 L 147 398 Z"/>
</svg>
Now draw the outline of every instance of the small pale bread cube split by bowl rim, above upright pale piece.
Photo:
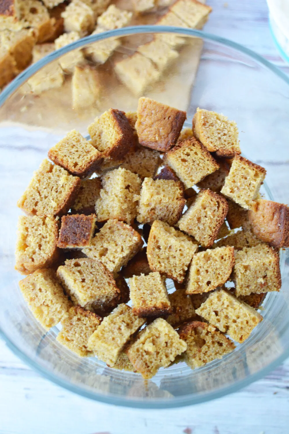
<svg viewBox="0 0 289 434">
<path fill-rule="evenodd" d="M 63 33 L 55 39 L 55 49 L 64 47 L 80 39 L 80 35 L 77 32 Z M 60 66 L 66 74 L 72 74 L 76 65 L 84 62 L 84 55 L 81 49 L 75 49 L 70 53 L 66 53 L 58 59 Z"/>
</svg>

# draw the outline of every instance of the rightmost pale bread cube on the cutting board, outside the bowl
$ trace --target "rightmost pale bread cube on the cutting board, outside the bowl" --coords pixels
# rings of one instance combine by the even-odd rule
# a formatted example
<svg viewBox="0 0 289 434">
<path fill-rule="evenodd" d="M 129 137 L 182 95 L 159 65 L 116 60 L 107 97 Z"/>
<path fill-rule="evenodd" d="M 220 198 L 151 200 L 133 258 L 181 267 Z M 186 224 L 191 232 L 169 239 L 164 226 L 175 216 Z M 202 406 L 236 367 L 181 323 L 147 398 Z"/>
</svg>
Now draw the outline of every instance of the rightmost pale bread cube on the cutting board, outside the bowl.
<svg viewBox="0 0 289 434">
<path fill-rule="evenodd" d="M 196 0 L 177 0 L 170 10 L 193 29 L 201 29 L 212 8 Z"/>
</svg>

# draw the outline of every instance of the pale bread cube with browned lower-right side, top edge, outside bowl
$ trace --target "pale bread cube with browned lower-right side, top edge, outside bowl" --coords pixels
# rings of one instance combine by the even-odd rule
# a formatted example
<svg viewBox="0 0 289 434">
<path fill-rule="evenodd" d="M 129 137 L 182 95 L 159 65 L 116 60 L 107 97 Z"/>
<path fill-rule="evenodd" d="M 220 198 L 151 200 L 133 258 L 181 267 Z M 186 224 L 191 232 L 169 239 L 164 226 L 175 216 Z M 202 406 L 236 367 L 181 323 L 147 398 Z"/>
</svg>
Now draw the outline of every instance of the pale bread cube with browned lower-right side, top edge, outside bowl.
<svg viewBox="0 0 289 434">
<path fill-rule="evenodd" d="M 64 19 L 65 32 L 78 32 L 80 36 L 86 36 L 94 28 L 94 12 L 81 0 L 72 0 L 61 16 Z"/>
</svg>

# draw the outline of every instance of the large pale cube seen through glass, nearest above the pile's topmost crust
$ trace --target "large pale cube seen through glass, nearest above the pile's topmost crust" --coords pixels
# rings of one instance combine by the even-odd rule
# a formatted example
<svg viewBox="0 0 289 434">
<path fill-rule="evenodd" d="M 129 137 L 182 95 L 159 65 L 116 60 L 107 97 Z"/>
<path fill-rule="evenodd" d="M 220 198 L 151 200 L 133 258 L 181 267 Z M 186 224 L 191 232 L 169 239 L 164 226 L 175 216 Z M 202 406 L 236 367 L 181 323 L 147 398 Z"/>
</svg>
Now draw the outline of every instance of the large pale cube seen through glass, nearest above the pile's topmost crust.
<svg viewBox="0 0 289 434">
<path fill-rule="evenodd" d="M 135 96 L 143 95 L 149 85 L 153 85 L 162 76 L 153 62 L 140 53 L 115 62 L 114 70 L 120 81 Z"/>
</svg>

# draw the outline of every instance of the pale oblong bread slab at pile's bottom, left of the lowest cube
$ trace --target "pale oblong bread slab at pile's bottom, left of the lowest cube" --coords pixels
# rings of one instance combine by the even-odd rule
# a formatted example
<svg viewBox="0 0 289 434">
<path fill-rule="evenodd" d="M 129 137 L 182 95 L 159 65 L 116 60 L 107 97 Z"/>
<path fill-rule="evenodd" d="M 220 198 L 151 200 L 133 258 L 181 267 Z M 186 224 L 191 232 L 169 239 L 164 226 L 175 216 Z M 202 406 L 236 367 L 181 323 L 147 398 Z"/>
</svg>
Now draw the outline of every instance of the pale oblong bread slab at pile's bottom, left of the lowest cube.
<svg viewBox="0 0 289 434">
<path fill-rule="evenodd" d="M 136 316 L 129 306 L 120 304 L 91 335 L 88 348 L 102 362 L 114 366 L 130 336 L 144 323 L 145 319 Z"/>
</svg>

